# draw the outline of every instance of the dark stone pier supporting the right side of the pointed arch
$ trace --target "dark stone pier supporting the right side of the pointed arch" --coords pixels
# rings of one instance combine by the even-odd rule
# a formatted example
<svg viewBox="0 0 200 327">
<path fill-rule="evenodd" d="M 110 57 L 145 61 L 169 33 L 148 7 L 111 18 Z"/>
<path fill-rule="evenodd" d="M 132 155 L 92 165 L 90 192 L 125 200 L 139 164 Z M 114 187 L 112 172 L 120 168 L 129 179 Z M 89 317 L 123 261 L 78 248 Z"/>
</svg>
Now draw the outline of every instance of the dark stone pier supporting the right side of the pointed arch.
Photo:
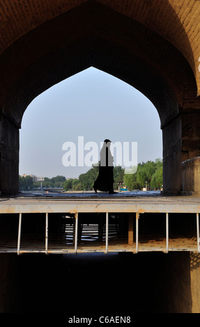
<svg viewBox="0 0 200 327">
<path fill-rule="evenodd" d="M 176 196 L 181 190 L 182 124 L 180 115 L 162 128 L 163 194 Z"/>
</svg>

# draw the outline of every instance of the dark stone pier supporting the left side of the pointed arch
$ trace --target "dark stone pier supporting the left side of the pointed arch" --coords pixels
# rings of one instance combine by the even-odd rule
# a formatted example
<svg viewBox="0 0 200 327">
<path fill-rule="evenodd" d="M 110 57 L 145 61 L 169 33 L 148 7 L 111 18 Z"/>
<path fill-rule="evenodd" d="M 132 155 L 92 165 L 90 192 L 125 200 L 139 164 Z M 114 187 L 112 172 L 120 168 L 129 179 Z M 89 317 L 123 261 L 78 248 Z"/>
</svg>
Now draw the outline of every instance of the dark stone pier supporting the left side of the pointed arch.
<svg viewBox="0 0 200 327">
<path fill-rule="evenodd" d="M 15 194 L 19 187 L 19 127 L 0 113 L 0 191 Z"/>
</svg>

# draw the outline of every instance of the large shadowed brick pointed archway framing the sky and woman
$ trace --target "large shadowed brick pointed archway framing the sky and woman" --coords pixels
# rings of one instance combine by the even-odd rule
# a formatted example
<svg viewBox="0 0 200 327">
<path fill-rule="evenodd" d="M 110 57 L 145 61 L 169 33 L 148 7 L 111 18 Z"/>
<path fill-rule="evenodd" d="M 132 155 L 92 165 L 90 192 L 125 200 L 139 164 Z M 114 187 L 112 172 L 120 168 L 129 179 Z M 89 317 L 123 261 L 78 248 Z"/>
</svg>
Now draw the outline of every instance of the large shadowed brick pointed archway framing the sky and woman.
<svg viewBox="0 0 200 327">
<path fill-rule="evenodd" d="M 172 0 L 112 2 L 79 0 L 75 6 L 74 1 L 24 0 L 17 6 L 0 1 L 7 33 L 0 56 L 2 193 L 18 190 L 18 129 L 26 107 L 50 86 L 90 66 L 130 83 L 153 102 L 163 131 L 164 192 L 183 190 L 182 161 L 200 155 L 200 89 L 198 47 L 191 42 L 199 31 L 192 38 L 194 24 L 186 33 L 180 14 L 190 12 L 195 22 L 200 6 Z"/>
</svg>

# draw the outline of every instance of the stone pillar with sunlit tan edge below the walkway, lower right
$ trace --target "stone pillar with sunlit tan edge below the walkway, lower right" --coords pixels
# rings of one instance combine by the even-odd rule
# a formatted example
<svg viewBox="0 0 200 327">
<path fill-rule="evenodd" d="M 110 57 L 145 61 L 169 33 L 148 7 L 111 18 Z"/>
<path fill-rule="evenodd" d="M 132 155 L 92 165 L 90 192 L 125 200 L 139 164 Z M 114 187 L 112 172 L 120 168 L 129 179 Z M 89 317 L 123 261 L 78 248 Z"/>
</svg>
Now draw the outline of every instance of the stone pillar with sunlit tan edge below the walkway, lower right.
<svg viewBox="0 0 200 327">
<path fill-rule="evenodd" d="M 200 313 L 200 254 L 171 252 L 165 258 L 162 312 Z"/>
</svg>

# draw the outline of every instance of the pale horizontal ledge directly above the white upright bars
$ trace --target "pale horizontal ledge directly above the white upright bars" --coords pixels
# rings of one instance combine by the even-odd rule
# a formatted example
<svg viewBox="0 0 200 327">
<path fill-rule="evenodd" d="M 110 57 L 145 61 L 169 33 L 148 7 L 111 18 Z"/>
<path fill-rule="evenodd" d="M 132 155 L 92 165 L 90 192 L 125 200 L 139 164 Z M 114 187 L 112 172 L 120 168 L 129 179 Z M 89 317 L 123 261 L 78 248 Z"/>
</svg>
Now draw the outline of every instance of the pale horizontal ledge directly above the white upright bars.
<svg viewBox="0 0 200 327">
<path fill-rule="evenodd" d="M 31 213 L 193 213 L 200 212 L 200 197 L 108 198 L 2 198 L 0 214 Z"/>
</svg>

